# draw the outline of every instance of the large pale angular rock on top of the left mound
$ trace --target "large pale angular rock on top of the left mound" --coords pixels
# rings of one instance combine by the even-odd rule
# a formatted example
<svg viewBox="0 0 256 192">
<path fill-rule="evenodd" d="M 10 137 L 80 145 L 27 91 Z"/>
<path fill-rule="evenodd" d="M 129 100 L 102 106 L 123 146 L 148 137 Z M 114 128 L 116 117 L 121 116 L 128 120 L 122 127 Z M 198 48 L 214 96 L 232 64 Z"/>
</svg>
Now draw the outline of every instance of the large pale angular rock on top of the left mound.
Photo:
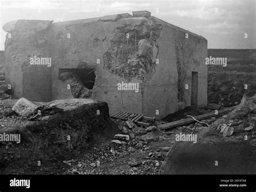
<svg viewBox="0 0 256 192">
<path fill-rule="evenodd" d="M 35 112 L 38 106 L 30 102 L 28 99 L 21 98 L 12 107 L 12 110 L 21 116 L 29 116 Z"/>
</svg>

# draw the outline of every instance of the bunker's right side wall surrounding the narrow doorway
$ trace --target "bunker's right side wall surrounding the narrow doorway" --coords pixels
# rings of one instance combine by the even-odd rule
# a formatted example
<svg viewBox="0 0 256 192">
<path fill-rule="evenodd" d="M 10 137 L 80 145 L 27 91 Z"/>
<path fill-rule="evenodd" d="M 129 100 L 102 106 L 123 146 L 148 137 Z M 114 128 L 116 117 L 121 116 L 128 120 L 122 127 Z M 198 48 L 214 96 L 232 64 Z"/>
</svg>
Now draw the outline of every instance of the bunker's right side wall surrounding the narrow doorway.
<svg viewBox="0 0 256 192">
<path fill-rule="evenodd" d="M 159 65 L 152 80 L 145 85 L 144 111 L 152 116 L 156 114 L 157 108 L 159 113 L 170 114 L 190 106 L 192 71 L 198 72 L 198 107 L 205 106 L 207 66 L 204 61 L 207 57 L 207 40 L 156 17 L 153 19 L 163 25 L 163 30 L 158 41 Z"/>
</svg>

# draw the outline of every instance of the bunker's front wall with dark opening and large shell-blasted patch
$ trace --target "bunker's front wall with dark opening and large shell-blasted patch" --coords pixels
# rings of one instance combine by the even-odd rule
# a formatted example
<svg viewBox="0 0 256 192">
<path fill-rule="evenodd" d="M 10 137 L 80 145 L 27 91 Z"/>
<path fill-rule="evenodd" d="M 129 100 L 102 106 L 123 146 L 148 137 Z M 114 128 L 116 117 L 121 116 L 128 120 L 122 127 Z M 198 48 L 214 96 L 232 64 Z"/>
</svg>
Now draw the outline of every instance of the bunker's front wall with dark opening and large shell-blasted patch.
<svg viewBox="0 0 256 192">
<path fill-rule="evenodd" d="M 124 81 L 139 83 L 143 87 L 152 78 L 156 67 L 153 50 L 156 55 L 158 49 L 155 44 L 161 25 L 144 17 L 115 18 L 93 23 L 87 23 L 85 19 L 78 23 L 55 24 L 55 34 L 63 36 L 62 40 L 57 39 L 57 35 L 53 39 L 56 45 L 52 70 L 54 99 L 63 98 L 63 95 L 71 97 L 70 90 L 66 88 L 69 81 L 60 81 L 57 76 L 59 68 L 96 68 L 93 99 L 108 102 L 112 113 L 121 110 L 142 113 L 142 88 L 138 93 L 118 91 L 117 84 Z M 68 34 L 70 38 L 66 38 Z M 129 38 L 126 38 L 127 34 Z"/>
</svg>

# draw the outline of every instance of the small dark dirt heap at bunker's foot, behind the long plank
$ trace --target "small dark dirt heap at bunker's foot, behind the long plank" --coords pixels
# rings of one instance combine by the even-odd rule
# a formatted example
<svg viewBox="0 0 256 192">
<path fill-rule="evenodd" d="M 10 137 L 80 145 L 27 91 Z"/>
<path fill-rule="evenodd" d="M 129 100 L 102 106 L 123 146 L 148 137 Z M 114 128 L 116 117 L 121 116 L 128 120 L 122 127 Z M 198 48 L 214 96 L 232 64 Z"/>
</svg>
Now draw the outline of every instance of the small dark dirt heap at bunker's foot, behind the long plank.
<svg viewBox="0 0 256 192">
<path fill-rule="evenodd" d="M 186 115 L 197 116 L 203 113 L 199 112 L 197 108 L 187 106 L 180 111 L 165 116 L 162 120 L 167 122 L 178 121 L 186 117 Z"/>
</svg>

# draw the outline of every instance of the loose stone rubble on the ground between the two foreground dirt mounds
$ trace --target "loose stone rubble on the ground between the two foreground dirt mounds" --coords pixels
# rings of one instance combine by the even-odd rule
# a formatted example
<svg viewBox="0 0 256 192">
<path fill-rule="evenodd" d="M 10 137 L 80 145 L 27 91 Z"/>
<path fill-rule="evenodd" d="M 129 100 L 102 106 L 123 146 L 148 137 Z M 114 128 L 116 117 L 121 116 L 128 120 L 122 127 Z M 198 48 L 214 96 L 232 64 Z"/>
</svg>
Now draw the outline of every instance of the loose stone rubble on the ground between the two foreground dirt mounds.
<svg viewBox="0 0 256 192">
<path fill-rule="evenodd" d="M 146 128 L 136 124 L 129 128 L 127 122 L 114 121 L 120 133 L 90 154 L 72 160 L 66 174 L 159 174 L 176 134 L 198 133 L 206 128 L 196 123 L 164 132 L 156 127 L 157 121 Z"/>
</svg>

